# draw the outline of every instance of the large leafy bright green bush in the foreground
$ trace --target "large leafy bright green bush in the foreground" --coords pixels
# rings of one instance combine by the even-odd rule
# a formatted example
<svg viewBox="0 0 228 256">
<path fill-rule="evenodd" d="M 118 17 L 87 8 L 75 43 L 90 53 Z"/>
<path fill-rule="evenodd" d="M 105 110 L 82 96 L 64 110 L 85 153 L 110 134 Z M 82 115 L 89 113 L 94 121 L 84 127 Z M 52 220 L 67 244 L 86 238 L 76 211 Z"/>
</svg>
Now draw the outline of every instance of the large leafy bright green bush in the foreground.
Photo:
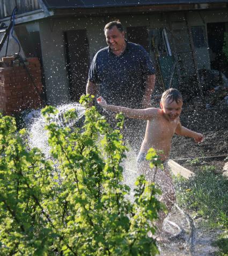
<svg viewBox="0 0 228 256">
<path fill-rule="evenodd" d="M 86 109 L 83 131 L 59 127 L 53 107 L 42 113 L 48 160 L 30 149 L 13 118 L 0 118 L 0 255 L 156 255 L 148 232 L 155 233 L 164 208 L 155 197 L 160 191 L 139 176 L 134 202 L 126 198 L 120 132 L 95 107 Z"/>
</svg>

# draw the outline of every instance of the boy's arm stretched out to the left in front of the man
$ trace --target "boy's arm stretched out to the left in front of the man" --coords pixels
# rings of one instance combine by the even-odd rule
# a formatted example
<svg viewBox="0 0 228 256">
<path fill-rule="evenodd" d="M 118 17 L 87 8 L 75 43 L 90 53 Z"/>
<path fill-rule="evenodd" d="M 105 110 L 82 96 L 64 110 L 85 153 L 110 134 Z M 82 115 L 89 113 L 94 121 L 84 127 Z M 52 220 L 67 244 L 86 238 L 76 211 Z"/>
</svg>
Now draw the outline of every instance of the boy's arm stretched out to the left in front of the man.
<svg viewBox="0 0 228 256">
<path fill-rule="evenodd" d="M 108 105 L 104 98 L 99 97 L 97 99 L 98 104 L 106 109 L 107 111 L 112 111 L 115 113 L 123 113 L 128 118 L 134 118 L 134 119 L 142 119 L 142 120 L 149 120 L 154 118 L 159 109 L 158 108 L 145 108 L 145 109 L 133 109 L 128 107 L 121 107 L 121 106 L 114 106 L 114 105 Z"/>
</svg>

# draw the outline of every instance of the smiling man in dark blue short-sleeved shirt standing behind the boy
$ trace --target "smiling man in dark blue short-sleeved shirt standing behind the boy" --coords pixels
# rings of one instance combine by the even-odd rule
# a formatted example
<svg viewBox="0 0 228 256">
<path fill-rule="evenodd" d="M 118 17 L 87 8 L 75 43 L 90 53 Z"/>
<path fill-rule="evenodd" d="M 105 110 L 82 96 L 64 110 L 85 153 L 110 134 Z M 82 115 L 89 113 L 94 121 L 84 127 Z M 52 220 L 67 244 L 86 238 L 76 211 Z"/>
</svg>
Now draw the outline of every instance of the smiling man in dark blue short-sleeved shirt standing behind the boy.
<svg viewBox="0 0 228 256">
<path fill-rule="evenodd" d="M 86 93 L 102 95 L 112 105 L 150 107 L 151 93 L 155 87 L 155 69 L 149 54 L 142 46 L 125 39 L 119 21 L 106 24 L 105 36 L 108 47 L 99 50 L 93 58 Z M 138 122 L 126 122 L 129 122 L 127 133 L 134 131 L 141 143 L 144 130 L 141 131 Z M 127 137 L 132 138 L 132 135 Z M 138 140 L 134 138 L 130 144 L 134 147 Z"/>
</svg>

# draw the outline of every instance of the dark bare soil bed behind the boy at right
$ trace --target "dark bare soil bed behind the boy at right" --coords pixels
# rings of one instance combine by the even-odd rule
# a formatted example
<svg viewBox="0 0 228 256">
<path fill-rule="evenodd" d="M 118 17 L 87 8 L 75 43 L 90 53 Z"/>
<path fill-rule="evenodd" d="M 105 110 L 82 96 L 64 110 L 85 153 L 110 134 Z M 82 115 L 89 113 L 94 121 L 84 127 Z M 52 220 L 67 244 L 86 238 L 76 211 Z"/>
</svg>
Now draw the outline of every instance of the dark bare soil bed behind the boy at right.
<svg viewBox="0 0 228 256">
<path fill-rule="evenodd" d="M 228 94 L 228 92 L 227 92 Z M 195 143 L 192 138 L 175 135 L 172 142 L 171 159 L 197 158 L 209 156 L 228 156 L 228 104 L 224 98 L 218 99 L 214 105 L 206 107 L 207 98 L 194 98 L 189 103 L 183 105 L 180 116 L 183 126 L 200 132 L 204 135 L 202 143 Z M 207 159 L 207 160 L 206 160 Z M 210 163 L 222 170 L 225 157 L 205 158 L 200 160 L 201 164 Z M 187 161 L 181 165 L 190 167 Z"/>
</svg>

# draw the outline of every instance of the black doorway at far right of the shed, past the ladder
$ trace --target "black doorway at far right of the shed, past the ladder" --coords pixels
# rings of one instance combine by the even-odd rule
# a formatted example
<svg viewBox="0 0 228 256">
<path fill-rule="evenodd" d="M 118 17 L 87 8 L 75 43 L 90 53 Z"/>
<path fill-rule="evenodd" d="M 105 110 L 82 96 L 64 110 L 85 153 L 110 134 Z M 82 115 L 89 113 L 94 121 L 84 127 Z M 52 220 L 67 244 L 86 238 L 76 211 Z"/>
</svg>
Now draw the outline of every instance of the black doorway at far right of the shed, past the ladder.
<svg viewBox="0 0 228 256">
<path fill-rule="evenodd" d="M 225 23 L 208 23 L 208 46 L 211 69 L 216 69 L 227 74 L 227 62 L 223 53 Z"/>
</svg>

